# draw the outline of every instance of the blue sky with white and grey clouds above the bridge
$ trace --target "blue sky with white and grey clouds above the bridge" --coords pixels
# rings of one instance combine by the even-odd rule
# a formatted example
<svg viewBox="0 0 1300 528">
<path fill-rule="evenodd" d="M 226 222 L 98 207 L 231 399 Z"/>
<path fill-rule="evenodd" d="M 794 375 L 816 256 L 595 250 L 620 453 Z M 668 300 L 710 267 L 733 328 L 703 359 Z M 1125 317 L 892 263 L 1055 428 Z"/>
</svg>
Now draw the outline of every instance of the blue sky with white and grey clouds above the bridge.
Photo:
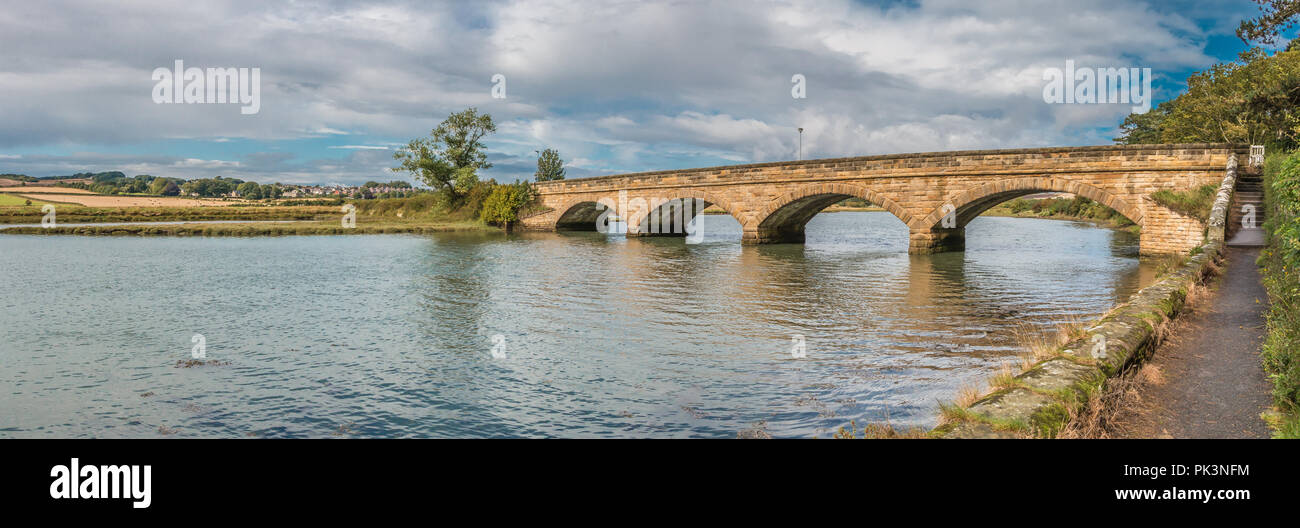
<svg viewBox="0 0 1300 528">
<path fill-rule="evenodd" d="M 220 4 L 220 5 L 217 5 Z M 1050 105 L 1044 68 L 1150 68 L 1156 100 L 1243 49 L 1204 0 L 0 0 L 0 173 L 393 179 L 477 107 L 498 181 L 805 157 L 1105 144 L 1130 105 Z M 261 108 L 156 104 L 156 68 L 260 68 Z M 506 78 L 494 99 L 493 75 Z M 794 74 L 806 99 L 790 96 Z"/>
</svg>

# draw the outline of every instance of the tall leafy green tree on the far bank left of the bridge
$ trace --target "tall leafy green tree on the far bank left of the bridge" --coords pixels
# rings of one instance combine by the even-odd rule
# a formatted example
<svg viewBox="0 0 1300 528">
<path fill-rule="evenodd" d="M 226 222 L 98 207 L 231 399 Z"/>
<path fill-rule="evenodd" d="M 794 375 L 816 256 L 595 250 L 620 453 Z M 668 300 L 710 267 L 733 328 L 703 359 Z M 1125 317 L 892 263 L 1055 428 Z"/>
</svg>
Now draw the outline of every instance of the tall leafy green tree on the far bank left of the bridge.
<svg viewBox="0 0 1300 528">
<path fill-rule="evenodd" d="M 396 151 L 393 159 L 400 166 L 393 170 L 410 172 L 425 185 L 460 198 L 478 181 L 478 169 L 491 168 L 482 138 L 495 131 L 491 116 L 474 108 L 454 113 L 428 138 L 412 139 Z"/>
</svg>

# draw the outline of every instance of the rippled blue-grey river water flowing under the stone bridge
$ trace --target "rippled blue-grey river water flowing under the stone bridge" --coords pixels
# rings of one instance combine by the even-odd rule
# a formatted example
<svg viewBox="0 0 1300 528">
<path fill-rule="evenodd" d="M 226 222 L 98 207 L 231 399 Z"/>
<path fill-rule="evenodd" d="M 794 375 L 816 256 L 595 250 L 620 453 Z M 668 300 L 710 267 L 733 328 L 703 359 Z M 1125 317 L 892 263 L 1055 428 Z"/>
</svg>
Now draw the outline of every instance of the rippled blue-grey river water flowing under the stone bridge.
<svg viewBox="0 0 1300 528">
<path fill-rule="evenodd" d="M 927 427 L 1017 355 L 1018 325 L 1093 316 L 1153 274 L 1136 237 L 1082 222 L 980 217 L 967 251 L 909 256 L 883 212 L 758 247 L 728 216 L 698 221 L 698 244 L 0 235 L 0 436 Z M 177 364 L 200 345 L 217 364 Z"/>
</svg>

